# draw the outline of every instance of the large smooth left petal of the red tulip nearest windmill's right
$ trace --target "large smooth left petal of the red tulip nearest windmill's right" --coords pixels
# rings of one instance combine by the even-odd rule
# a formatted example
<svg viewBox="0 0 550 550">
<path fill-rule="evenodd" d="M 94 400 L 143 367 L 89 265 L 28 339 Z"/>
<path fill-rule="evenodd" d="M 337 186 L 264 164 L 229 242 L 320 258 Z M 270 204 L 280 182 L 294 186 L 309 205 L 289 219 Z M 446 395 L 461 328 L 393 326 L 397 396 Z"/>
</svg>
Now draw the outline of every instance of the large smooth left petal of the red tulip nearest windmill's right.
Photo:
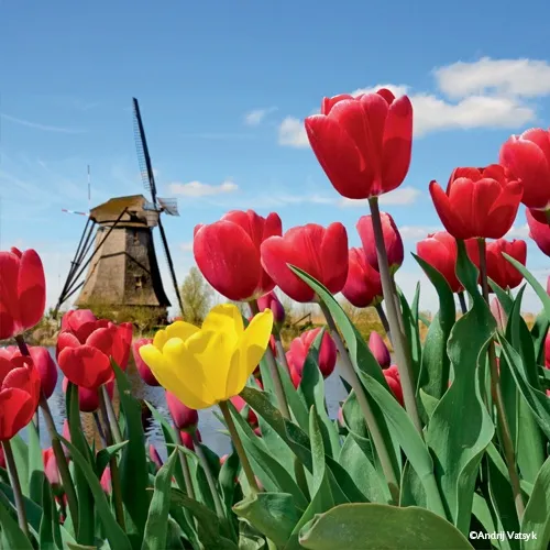
<svg viewBox="0 0 550 550">
<path fill-rule="evenodd" d="M 260 251 L 237 223 L 217 221 L 202 227 L 193 251 L 205 278 L 226 298 L 248 300 L 260 290 Z"/>
</svg>

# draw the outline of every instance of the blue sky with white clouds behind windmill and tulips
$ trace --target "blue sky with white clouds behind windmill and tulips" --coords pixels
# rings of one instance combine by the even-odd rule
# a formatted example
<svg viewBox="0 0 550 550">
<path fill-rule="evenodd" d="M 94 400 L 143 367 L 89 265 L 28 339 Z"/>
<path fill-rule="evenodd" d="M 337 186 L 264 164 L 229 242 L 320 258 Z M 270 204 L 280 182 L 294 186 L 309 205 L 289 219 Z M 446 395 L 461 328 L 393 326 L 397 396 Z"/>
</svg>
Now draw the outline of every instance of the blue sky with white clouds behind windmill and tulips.
<svg viewBox="0 0 550 550">
<path fill-rule="evenodd" d="M 491 164 L 510 133 L 550 125 L 549 19 L 546 0 L 0 0 L 1 248 L 38 250 L 55 301 L 84 226 L 62 208 L 88 208 L 87 165 L 92 206 L 143 190 L 132 96 L 158 194 L 179 201 L 180 218 L 165 223 L 179 278 L 194 226 L 232 208 L 276 210 L 285 229 L 340 220 L 356 245 L 366 207 L 342 202 L 301 120 L 323 96 L 388 85 L 411 97 L 416 139 L 383 208 L 414 250 L 441 227 L 431 179 Z M 522 211 L 514 235 L 526 235 Z M 528 262 L 544 279 L 548 258 L 532 245 Z M 399 284 L 410 293 L 419 278 L 407 257 Z M 532 294 L 526 308 L 539 308 Z"/>
</svg>

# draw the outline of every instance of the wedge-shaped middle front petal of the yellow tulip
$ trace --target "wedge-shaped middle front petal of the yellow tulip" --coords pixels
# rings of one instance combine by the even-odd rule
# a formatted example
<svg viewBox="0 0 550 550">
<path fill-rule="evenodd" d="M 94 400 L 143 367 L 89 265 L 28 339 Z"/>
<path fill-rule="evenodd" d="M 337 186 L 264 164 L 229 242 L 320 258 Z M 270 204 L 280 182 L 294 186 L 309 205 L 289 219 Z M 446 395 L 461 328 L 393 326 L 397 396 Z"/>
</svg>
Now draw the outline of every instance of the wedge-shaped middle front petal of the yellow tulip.
<svg viewBox="0 0 550 550">
<path fill-rule="evenodd" d="M 231 356 L 234 351 L 234 336 L 224 331 L 201 330 L 187 340 L 189 354 L 200 363 L 205 373 L 205 385 L 217 400 L 226 400 L 226 385 Z"/>
</svg>

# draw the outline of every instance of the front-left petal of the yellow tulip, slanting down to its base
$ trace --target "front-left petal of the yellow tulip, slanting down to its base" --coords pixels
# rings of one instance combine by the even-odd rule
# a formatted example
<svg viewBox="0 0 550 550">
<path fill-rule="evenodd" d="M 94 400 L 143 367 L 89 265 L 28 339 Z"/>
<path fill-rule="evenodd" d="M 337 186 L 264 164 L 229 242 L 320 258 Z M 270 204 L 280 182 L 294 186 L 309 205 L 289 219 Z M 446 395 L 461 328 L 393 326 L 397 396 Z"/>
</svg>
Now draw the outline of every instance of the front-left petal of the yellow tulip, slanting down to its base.
<svg viewBox="0 0 550 550">
<path fill-rule="evenodd" d="M 206 384 L 201 364 L 189 353 L 184 341 L 170 338 L 164 345 L 163 355 L 172 384 L 172 388 L 167 389 L 176 395 L 186 392 L 204 404 L 216 403 Z"/>
</svg>

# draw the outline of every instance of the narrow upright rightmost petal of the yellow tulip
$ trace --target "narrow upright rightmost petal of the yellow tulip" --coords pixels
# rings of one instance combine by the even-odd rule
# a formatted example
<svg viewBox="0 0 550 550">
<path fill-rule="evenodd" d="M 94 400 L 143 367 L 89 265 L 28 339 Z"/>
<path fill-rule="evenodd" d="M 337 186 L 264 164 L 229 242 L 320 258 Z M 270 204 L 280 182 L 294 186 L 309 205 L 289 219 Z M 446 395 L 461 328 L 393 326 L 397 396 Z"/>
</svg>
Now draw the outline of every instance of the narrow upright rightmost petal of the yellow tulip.
<svg viewBox="0 0 550 550">
<path fill-rule="evenodd" d="M 273 312 L 266 309 L 254 316 L 243 332 L 231 360 L 226 392 L 240 394 L 249 376 L 254 372 L 270 344 L 273 330 Z"/>
</svg>

